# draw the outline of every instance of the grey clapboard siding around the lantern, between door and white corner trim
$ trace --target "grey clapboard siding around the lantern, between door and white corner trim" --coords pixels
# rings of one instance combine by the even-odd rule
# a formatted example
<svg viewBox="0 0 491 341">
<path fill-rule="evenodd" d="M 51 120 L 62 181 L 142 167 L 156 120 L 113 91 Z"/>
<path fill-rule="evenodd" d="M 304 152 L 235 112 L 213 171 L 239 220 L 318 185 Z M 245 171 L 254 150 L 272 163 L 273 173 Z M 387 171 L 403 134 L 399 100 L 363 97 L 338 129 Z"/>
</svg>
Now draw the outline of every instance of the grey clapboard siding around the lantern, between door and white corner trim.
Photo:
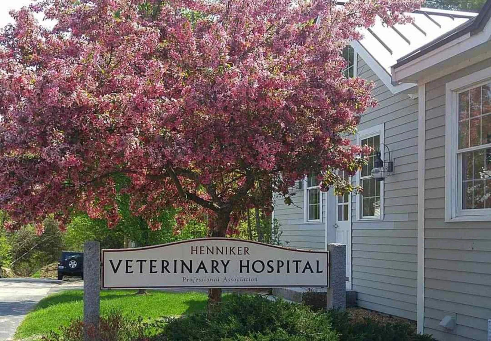
<svg viewBox="0 0 491 341">
<path fill-rule="evenodd" d="M 385 179 L 383 221 L 357 221 L 353 196 L 353 290 L 358 305 L 416 319 L 418 102 L 392 95 L 358 57 L 358 76 L 375 81 L 377 107 L 362 115 L 359 131 L 384 124 L 394 173 Z"/>
</svg>

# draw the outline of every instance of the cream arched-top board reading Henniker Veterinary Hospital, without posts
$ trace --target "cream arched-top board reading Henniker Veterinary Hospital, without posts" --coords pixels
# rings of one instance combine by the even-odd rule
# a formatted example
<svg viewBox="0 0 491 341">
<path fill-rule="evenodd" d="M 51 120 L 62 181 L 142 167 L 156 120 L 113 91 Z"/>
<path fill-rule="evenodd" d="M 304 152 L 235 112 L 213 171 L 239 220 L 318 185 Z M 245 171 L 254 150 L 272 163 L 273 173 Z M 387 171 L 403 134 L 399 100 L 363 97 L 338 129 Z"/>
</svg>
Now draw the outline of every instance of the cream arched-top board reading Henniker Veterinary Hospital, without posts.
<svg viewBox="0 0 491 341">
<path fill-rule="evenodd" d="M 102 250 L 102 289 L 329 287 L 329 254 L 201 238 Z"/>
</svg>

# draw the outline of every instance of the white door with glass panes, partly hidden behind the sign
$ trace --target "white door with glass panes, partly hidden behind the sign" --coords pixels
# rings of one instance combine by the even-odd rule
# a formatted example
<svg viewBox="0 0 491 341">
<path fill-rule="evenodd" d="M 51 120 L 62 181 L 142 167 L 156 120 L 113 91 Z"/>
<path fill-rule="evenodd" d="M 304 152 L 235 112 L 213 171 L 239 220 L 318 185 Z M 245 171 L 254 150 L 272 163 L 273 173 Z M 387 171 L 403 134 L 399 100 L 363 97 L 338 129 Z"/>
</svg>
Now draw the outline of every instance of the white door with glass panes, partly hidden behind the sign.
<svg viewBox="0 0 491 341">
<path fill-rule="evenodd" d="M 344 171 L 339 175 L 347 180 L 350 179 L 348 173 Z M 335 198 L 334 214 L 336 243 L 346 245 L 346 289 L 351 290 L 351 194 L 346 193 Z"/>
</svg>

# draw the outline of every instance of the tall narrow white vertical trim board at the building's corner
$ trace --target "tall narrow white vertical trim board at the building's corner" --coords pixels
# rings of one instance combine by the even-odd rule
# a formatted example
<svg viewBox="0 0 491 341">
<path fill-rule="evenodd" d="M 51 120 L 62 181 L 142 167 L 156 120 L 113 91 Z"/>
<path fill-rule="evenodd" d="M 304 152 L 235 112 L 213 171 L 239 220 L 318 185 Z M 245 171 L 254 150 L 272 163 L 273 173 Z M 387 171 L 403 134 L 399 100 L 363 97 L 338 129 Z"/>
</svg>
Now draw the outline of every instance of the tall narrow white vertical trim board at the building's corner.
<svg viewBox="0 0 491 341">
<path fill-rule="evenodd" d="M 425 310 L 425 136 L 426 85 L 418 86 L 418 271 L 417 271 L 417 331 L 424 331 Z"/>
</svg>

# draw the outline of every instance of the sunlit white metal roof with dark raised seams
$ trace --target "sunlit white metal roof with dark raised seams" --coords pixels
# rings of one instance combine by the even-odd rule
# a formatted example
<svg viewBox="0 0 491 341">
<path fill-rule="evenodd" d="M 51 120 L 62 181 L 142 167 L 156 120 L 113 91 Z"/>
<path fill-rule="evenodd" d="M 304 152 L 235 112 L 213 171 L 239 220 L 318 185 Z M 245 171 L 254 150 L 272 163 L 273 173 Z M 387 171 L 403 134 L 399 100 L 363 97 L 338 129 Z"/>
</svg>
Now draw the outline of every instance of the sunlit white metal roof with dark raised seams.
<svg viewBox="0 0 491 341">
<path fill-rule="evenodd" d="M 420 8 L 409 15 L 414 19 L 413 23 L 386 26 L 378 19 L 373 27 L 361 30 L 363 39 L 359 43 L 389 75 L 390 67 L 398 59 L 419 51 L 475 18 L 477 13 Z"/>
</svg>

